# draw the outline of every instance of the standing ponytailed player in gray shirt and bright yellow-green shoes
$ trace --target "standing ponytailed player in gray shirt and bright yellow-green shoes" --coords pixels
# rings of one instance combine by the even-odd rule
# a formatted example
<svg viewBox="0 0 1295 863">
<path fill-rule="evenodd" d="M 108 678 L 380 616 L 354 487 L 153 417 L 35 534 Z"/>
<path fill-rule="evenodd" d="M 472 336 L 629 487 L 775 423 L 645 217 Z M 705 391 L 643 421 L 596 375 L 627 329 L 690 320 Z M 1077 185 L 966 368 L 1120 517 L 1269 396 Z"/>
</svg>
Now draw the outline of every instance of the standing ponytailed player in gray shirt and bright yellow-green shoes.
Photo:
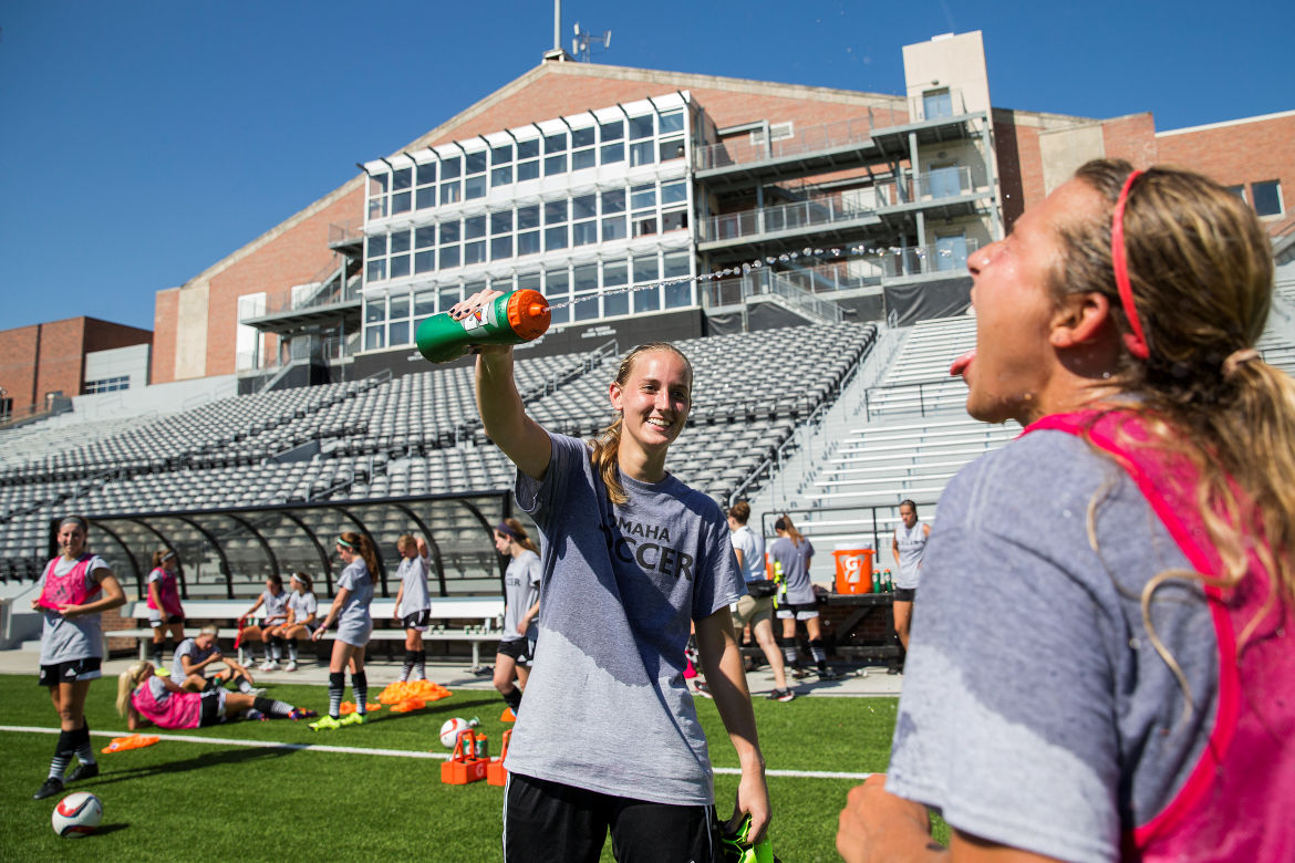
<svg viewBox="0 0 1295 863">
<path fill-rule="evenodd" d="M 346 564 L 346 569 L 337 580 L 337 595 L 333 596 L 328 616 L 311 635 L 317 642 L 333 621 L 337 621 L 337 639 L 333 642 L 333 656 L 328 665 L 328 716 L 311 723 L 316 731 L 341 728 L 343 725 L 364 725 L 368 721 L 365 704 L 369 697 L 369 679 L 364 673 L 364 647 L 373 631 L 369 603 L 373 602 L 372 573 L 378 569 L 378 555 L 368 537 L 351 532 L 337 538 L 337 554 Z M 341 719 L 347 668 L 351 669 L 355 713 Z"/>
</svg>

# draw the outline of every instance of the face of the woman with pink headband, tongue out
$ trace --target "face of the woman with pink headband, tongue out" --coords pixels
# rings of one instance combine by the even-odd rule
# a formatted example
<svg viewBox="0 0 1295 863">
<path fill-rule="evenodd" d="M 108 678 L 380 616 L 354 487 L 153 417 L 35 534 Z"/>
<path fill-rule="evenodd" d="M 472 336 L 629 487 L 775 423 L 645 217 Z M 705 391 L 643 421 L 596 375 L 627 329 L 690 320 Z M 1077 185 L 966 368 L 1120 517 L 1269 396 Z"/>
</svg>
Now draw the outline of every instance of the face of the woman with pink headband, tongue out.
<svg viewBox="0 0 1295 863">
<path fill-rule="evenodd" d="M 1057 304 L 1049 287 L 1064 277 L 1059 232 L 1102 213 L 1097 191 L 1071 180 L 1017 220 L 1005 239 L 967 259 L 976 353 L 962 377 L 967 413 L 976 419 L 1026 424 L 1048 411 L 1040 396 L 1055 370 Z"/>
</svg>

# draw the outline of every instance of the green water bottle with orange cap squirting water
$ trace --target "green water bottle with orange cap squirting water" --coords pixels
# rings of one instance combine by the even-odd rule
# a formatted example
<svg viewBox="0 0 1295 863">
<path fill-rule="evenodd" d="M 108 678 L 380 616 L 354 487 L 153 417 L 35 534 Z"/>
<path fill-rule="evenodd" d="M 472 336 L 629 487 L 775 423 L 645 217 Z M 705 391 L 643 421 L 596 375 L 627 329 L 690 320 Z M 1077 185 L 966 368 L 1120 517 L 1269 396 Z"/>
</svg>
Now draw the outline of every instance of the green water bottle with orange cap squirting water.
<svg viewBox="0 0 1295 863">
<path fill-rule="evenodd" d="M 471 344 L 521 344 L 549 329 L 549 301 L 539 291 L 523 289 L 496 296 L 461 321 L 449 312 L 433 314 L 418 325 L 414 342 L 430 362 L 449 362 Z"/>
</svg>

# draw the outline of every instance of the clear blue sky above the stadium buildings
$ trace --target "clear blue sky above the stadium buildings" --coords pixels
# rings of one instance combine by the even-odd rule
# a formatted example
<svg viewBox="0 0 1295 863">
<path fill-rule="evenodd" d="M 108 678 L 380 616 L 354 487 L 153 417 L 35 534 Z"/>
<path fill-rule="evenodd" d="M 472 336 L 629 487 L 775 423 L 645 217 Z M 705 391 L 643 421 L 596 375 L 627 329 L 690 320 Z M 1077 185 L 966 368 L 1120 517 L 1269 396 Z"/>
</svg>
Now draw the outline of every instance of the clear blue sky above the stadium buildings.
<svg viewBox="0 0 1295 863">
<path fill-rule="evenodd" d="M 984 32 L 996 107 L 1295 107 L 1289 0 L 566 0 L 596 62 L 903 93 L 905 44 Z M 536 66 L 552 0 L 5 0 L 0 330 L 87 314 L 152 329 L 181 285 Z"/>
</svg>

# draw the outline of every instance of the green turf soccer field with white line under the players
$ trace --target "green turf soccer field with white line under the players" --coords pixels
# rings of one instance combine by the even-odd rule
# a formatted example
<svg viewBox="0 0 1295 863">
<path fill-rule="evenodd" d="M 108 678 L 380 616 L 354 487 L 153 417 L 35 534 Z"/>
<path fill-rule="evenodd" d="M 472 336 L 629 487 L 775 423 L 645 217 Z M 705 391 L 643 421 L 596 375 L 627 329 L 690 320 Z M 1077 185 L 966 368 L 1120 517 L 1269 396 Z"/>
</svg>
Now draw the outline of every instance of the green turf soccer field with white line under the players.
<svg viewBox="0 0 1295 863">
<path fill-rule="evenodd" d="M 370 694 L 374 700 L 381 687 Z M 275 686 L 268 695 L 320 709 L 322 686 Z M 91 687 L 92 731 L 123 731 L 115 679 Z M 351 697 L 347 690 L 347 697 Z M 0 725 L 53 728 L 53 709 L 35 677 L 0 675 Z M 886 767 L 895 699 L 804 697 L 755 704 L 769 770 L 872 772 Z M 401 752 L 444 752 L 436 739 L 452 716 L 479 717 L 497 754 L 502 703 L 493 692 L 458 690 L 418 713 L 383 708 L 374 721 L 330 732 L 304 722 L 234 722 L 186 737 L 326 744 Z M 699 701 L 716 767 L 737 761 L 715 706 Z M 98 752 L 107 737 L 92 737 Z M 56 798 L 34 801 L 54 736 L 0 731 L 0 860 L 291 860 L 500 859 L 502 789 L 440 784 L 440 761 L 377 754 L 247 748 L 163 740 L 146 749 L 98 756 L 97 779 L 69 785 L 104 801 L 104 825 L 83 840 L 49 825 Z M 632 740 L 625 757 L 636 757 Z M 732 806 L 736 776 L 717 775 L 716 801 Z M 837 815 L 856 780 L 773 776 L 772 840 L 785 863 L 839 859 Z M 940 837 L 943 838 L 943 837 Z M 610 860 L 609 850 L 603 859 Z"/>
</svg>

